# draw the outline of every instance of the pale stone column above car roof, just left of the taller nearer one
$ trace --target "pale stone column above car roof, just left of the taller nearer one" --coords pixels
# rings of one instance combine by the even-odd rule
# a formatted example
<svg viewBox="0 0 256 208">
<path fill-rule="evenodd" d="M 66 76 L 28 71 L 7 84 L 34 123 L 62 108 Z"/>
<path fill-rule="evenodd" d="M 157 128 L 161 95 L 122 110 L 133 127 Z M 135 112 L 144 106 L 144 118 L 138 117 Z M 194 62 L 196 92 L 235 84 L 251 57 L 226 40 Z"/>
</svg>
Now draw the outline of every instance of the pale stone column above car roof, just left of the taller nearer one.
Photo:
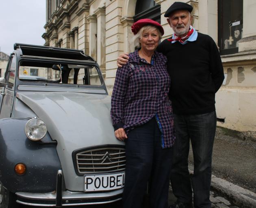
<svg viewBox="0 0 256 208">
<path fill-rule="evenodd" d="M 89 56 L 97 60 L 97 18 L 96 15 L 88 15 L 89 23 Z"/>
</svg>

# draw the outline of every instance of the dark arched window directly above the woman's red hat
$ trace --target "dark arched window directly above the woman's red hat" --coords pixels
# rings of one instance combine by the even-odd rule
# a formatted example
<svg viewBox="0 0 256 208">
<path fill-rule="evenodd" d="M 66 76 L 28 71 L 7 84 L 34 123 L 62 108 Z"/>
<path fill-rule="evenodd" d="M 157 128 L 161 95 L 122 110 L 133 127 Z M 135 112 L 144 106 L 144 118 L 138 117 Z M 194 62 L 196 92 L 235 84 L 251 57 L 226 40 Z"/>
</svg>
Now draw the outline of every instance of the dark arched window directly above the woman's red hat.
<svg viewBox="0 0 256 208">
<path fill-rule="evenodd" d="M 161 24 L 161 6 L 156 4 L 154 0 L 137 0 L 133 20 L 136 22 L 145 18 Z"/>
</svg>

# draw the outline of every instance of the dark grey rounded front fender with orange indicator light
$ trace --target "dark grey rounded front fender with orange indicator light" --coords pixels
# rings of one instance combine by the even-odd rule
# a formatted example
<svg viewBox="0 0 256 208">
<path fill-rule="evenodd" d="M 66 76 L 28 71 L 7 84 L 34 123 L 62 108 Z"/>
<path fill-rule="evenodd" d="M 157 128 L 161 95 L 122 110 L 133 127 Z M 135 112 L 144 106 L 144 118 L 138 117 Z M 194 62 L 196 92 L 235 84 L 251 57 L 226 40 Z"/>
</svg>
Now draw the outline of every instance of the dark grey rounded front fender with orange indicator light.
<svg viewBox="0 0 256 208">
<path fill-rule="evenodd" d="M 0 119 L 0 182 L 15 192 L 47 193 L 56 189 L 56 175 L 61 163 L 54 143 L 47 133 L 41 141 L 26 137 L 28 119 Z M 23 163 L 26 172 L 19 176 L 15 165 Z"/>
</svg>

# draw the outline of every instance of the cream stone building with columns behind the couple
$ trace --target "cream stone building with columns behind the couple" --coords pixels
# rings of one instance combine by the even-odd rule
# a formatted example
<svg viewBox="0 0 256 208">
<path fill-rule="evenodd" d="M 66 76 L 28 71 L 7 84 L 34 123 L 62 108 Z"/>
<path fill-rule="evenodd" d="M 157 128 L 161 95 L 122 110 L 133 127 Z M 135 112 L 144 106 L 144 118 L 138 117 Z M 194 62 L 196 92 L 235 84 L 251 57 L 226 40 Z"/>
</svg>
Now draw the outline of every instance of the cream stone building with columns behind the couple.
<svg viewBox="0 0 256 208">
<path fill-rule="evenodd" d="M 216 95 L 218 125 L 256 131 L 255 0 L 180 0 L 193 6 L 193 27 L 219 47 L 225 80 Z M 46 0 L 45 45 L 84 50 L 100 65 L 111 94 L 117 56 L 132 52 L 130 26 L 151 18 L 172 34 L 164 17 L 175 0 Z M 182 55 L 182 54 L 181 54 Z"/>
</svg>

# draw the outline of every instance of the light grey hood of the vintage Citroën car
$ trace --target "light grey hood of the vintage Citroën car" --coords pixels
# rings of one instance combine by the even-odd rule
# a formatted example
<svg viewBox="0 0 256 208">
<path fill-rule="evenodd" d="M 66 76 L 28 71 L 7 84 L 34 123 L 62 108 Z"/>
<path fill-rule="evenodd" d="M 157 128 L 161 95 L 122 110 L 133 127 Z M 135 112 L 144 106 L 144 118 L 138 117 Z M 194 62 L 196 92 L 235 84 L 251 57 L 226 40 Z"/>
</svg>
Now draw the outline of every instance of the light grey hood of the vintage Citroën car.
<svg viewBox="0 0 256 208">
<path fill-rule="evenodd" d="M 108 95 L 17 92 L 16 96 L 46 123 L 52 139 L 58 142 L 57 152 L 64 177 L 68 174 L 73 178 L 72 181 L 65 180 L 69 190 L 77 190 L 78 186 L 83 190 L 83 182 L 74 180 L 78 177 L 72 161 L 74 150 L 95 145 L 124 145 L 114 135 Z"/>
</svg>

